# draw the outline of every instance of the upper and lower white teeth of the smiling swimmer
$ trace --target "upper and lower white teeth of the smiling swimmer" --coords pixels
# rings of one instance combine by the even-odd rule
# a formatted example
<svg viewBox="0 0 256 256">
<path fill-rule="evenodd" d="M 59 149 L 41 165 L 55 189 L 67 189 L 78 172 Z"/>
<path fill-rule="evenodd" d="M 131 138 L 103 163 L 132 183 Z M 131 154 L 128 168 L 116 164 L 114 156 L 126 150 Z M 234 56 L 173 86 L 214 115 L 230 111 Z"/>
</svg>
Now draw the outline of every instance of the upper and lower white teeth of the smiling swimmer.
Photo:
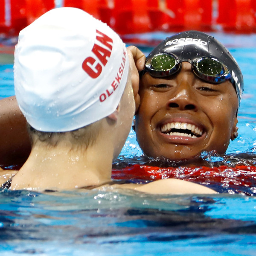
<svg viewBox="0 0 256 256">
<path fill-rule="evenodd" d="M 192 137 L 192 138 L 196 138 L 195 135 L 191 135 L 191 134 L 186 134 L 186 133 L 179 133 L 179 132 L 170 132 L 171 129 L 181 129 L 181 130 L 190 130 L 193 134 L 197 135 L 197 136 L 201 136 L 203 134 L 203 130 L 201 130 L 199 127 L 192 125 L 192 124 L 188 124 L 188 123 L 181 123 L 181 122 L 171 122 L 168 124 L 165 124 L 163 126 L 161 126 L 161 132 L 167 132 L 169 131 L 169 135 L 176 135 L 176 136 L 184 136 L 184 137 Z"/>
</svg>

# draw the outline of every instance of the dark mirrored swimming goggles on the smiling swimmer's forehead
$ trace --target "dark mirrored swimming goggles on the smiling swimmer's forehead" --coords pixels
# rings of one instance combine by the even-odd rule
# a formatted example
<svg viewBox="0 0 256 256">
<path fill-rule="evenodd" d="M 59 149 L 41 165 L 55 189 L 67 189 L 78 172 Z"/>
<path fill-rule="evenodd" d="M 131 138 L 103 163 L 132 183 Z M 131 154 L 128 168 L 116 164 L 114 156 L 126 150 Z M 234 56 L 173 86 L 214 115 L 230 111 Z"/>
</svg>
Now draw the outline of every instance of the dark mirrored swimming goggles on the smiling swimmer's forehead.
<svg viewBox="0 0 256 256">
<path fill-rule="evenodd" d="M 213 57 L 201 57 L 196 60 L 179 60 L 170 53 L 159 53 L 148 59 L 144 72 L 154 77 L 172 76 L 181 69 L 181 62 L 188 61 L 192 65 L 193 73 L 200 79 L 213 84 L 222 83 L 231 79 L 227 67 Z"/>
</svg>

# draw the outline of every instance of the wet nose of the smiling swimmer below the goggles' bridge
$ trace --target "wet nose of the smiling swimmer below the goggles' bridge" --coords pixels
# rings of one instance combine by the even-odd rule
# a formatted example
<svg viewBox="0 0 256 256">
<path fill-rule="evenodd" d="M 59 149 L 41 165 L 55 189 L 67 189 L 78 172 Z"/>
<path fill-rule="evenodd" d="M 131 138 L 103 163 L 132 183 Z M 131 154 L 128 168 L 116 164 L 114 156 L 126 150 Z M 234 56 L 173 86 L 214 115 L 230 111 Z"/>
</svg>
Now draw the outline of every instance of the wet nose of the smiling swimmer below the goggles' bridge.
<svg viewBox="0 0 256 256">
<path fill-rule="evenodd" d="M 183 62 L 182 68 L 175 78 L 176 90 L 172 94 L 172 98 L 167 103 L 168 108 L 177 108 L 180 110 L 193 110 L 198 109 L 193 84 L 195 76 L 192 73 L 191 64 Z"/>
</svg>

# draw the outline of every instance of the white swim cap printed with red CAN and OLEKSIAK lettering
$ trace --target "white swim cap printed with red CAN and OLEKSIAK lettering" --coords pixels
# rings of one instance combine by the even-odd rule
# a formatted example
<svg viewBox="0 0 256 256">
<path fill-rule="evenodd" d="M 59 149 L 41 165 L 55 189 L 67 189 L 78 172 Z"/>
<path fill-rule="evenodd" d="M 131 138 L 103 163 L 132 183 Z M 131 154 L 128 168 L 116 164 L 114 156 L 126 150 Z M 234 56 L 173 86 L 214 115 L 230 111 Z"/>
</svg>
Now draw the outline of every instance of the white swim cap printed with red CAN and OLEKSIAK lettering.
<svg viewBox="0 0 256 256">
<path fill-rule="evenodd" d="M 128 69 L 125 44 L 110 27 L 81 9 L 53 9 L 20 31 L 17 102 L 33 128 L 72 131 L 113 113 Z"/>
</svg>

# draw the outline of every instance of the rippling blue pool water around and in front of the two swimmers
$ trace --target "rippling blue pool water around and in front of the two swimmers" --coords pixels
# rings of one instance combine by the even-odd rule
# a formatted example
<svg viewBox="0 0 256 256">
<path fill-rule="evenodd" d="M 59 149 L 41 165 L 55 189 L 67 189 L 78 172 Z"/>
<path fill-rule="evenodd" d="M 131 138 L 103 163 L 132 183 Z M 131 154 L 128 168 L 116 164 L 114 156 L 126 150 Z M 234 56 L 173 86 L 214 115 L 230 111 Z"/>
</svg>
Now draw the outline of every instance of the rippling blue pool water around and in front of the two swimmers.
<svg viewBox="0 0 256 256">
<path fill-rule="evenodd" d="M 138 37 L 162 40 L 165 34 Z M 239 137 L 227 153 L 256 151 L 256 36 L 215 37 L 244 74 Z M 147 53 L 151 47 L 140 46 Z M 14 94 L 13 66 L 0 65 L 0 96 Z M 121 157 L 142 154 L 131 131 Z M 255 188 L 256 189 L 256 188 Z M 255 256 L 256 197 L 146 195 L 77 190 L 0 191 L 0 254 Z"/>
</svg>

